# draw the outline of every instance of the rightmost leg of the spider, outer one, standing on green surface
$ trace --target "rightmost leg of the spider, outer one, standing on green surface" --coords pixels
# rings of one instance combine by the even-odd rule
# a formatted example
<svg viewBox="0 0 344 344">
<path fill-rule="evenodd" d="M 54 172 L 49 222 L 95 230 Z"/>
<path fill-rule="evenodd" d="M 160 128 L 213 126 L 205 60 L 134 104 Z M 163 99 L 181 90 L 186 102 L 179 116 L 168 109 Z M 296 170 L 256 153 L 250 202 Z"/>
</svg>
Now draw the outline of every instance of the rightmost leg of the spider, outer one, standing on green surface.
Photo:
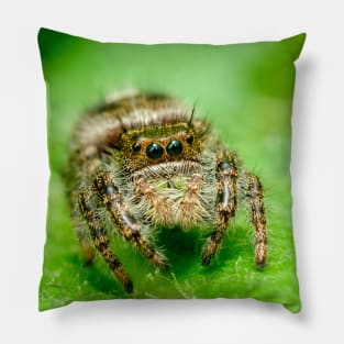
<svg viewBox="0 0 344 344">
<path fill-rule="evenodd" d="M 267 230 L 264 207 L 264 190 L 255 175 L 246 174 L 247 203 L 251 213 L 251 222 L 255 226 L 255 263 L 257 267 L 265 266 L 267 256 Z"/>
</svg>

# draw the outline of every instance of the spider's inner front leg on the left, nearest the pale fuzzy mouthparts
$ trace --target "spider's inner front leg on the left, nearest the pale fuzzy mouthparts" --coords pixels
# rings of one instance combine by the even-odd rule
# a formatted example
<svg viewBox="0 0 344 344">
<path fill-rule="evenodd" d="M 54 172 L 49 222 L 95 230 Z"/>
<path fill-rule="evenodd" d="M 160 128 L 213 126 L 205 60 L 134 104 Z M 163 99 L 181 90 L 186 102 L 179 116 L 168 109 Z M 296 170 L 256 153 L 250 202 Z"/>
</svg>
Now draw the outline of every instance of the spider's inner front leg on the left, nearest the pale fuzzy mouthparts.
<svg viewBox="0 0 344 344">
<path fill-rule="evenodd" d="M 119 233 L 133 243 L 153 265 L 167 270 L 169 265 L 166 257 L 144 236 L 142 225 L 130 212 L 111 175 L 99 174 L 93 182 L 93 190 L 110 212 Z"/>
</svg>

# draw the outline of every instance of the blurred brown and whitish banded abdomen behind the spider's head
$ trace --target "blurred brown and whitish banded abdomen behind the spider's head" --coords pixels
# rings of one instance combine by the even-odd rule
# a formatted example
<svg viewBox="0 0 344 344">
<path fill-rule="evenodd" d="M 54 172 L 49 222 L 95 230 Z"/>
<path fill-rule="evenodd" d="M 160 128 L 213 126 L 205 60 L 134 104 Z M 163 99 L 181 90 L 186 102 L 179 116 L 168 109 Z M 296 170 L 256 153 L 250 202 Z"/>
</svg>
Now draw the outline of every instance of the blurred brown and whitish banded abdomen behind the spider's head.
<svg viewBox="0 0 344 344">
<path fill-rule="evenodd" d="M 98 153 L 120 147 L 122 135 L 145 127 L 187 121 L 189 112 L 174 98 L 158 95 L 135 95 L 107 102 L 82 118 L 74 133 L 75 149 Z"/>
</svg>

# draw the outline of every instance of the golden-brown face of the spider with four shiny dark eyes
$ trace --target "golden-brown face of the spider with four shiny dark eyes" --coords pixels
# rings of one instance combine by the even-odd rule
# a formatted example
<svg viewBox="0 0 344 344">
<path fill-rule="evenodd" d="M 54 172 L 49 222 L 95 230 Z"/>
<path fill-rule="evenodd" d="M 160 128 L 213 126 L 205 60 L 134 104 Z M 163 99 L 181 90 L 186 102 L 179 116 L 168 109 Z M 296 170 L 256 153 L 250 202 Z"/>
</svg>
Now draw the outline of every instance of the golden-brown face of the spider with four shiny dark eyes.
<svg viewBox="0 0 344 344">
<path fill-rule="evenodd" d="M 200 136 L 188 123 L 130 130 L 121 136 L 124 166 L 136 171 L 171 162 L 199 162 Z"/>
</svg>

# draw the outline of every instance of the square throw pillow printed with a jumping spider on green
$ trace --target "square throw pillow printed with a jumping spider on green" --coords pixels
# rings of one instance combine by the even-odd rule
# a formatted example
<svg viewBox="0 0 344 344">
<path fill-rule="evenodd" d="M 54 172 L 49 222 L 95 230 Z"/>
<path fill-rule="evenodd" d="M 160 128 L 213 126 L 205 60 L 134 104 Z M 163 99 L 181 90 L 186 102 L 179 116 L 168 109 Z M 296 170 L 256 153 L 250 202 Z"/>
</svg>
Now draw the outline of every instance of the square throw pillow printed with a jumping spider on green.
<svg viewBox="0 0 344 344">
<path fill-rule="evenodd" d="M 119 298 L 300 311 L 289 164 L 304 38 L 141 45 L 41 29 L 41 311 Z"/>
</svg>

